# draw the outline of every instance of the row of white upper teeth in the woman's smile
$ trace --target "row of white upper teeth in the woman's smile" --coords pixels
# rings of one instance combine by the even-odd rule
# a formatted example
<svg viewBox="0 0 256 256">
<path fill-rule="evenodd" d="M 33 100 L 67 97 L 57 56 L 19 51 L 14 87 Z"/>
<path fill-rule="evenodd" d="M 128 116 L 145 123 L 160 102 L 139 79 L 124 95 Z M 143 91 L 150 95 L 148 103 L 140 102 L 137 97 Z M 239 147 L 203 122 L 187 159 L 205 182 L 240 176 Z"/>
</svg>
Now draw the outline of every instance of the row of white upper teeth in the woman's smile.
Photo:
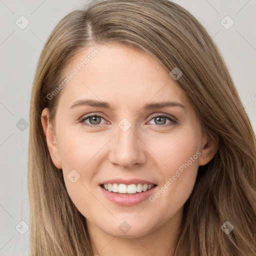
<svg viewBox="0 0 256 256">
<path fill-rule="evenodd" d="M 104 188 L 106 190 L 108 190 L 109 192 L 114 192 L 114 193 L 128 193 L 128 194 L 134 194 L 136 192 L 142 192 L 142 191 L 146 191 L 149 190 L 153 187 L 153 184 L 117 184 L 117 183 L 108 183 L 108 184 L 104 184 Z"/>
</svg>

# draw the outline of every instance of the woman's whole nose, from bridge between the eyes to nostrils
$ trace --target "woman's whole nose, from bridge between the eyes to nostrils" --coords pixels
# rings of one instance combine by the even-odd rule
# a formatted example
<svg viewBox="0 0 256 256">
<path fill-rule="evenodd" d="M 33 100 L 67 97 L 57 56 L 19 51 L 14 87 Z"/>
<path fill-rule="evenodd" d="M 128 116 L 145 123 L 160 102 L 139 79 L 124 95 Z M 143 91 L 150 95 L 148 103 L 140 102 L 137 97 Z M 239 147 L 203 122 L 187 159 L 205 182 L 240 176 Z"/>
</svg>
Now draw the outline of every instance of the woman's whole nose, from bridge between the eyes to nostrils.
<svg viewBox="0 0 256 256">
<path fill-rule="evenodd" d="M 110 161 L 122 166 L 131 166 L 145 161 L 143 143 L 139 140 L 135 125 L 123 118 L 116 127 L 116 135 L 112 141 Z"/>
</svg>

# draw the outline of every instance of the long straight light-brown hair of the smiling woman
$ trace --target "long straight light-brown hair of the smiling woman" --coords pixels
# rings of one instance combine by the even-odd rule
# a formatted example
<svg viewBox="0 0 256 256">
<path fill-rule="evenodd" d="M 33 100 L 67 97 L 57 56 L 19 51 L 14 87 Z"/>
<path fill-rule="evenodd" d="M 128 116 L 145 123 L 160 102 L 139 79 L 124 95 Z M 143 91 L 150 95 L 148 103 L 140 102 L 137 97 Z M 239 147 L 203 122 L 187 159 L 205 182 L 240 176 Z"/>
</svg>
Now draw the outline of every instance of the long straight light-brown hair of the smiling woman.
<svg viewBox="0 0 256 256">
<path fill-rule="evenodd" d="M 256 255 L 256 141 L 227 67 L 203 26 L 168 0 L 93 0 L 63 17 L 48 37 L 36 67 L 30 104 L 28 191 L 32 255 L 93 255 L 85 217 L 68 196 L 62 171 L 47 148 L 44 107 L 54 121 L 66 65 L 91 45 L 123 43 L 154 57 L 178 86 L 202 127 L 219 147 L 199 166 L 184 205 L 175 256 Z M 220 227 L 229 221 L 234 229 Z"/>
</svg>

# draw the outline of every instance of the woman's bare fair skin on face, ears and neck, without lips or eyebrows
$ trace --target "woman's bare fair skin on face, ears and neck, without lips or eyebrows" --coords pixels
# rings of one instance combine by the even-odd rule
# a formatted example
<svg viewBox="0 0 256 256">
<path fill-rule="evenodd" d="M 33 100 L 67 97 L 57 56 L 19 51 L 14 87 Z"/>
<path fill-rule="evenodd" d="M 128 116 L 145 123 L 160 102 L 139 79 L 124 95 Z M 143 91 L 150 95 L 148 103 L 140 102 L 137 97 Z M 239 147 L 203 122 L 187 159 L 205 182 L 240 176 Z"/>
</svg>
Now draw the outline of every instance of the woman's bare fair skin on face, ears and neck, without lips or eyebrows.
<svg viewBox="0 0 256 256">
<path fill-rule="evenodd" d="M 86 217 L 94 253 L 162 256 L 169 249 L 172 255 L 198 166 L 214 156 L 217 142 L 204 134 L 176 81 L 142 51 L 120 44 L 95 45 L 68 63 L 67 74 L 95 47 L 99 53 L 62 89 L 54 127 L 47 120 L 48 108 L 42 111 L 51 159 L 62 169 L 68 194 Z M 69 108 L 83 98 L 106 101 L 115 109 Z M 142 109 L 144 104 L 165 100 L 177 101 L 186 109 Z M 96 119 L 101 126 L 79 122 L 90 113 L 102 115 Z M 177 123 L 166 118 L 162 124 L 153 114 L 173 116 Z M 127 131 L 118 126 L 122 118 L 131 123 Z M 83 122 L 95 125 L 89 118 Z M 146 179 L 160 188 L 197 151 L 201 155 L 154 202 L 146 199 L 134 206 L 119 206 L 108 201 L 99 188 L 103 180 L 115 177 Z M 74 183 L 67 178 L 72 169 L 80 175 Z M 125 234 L 118 228 L 123 221 L 130 225 Z"/>
</svg>

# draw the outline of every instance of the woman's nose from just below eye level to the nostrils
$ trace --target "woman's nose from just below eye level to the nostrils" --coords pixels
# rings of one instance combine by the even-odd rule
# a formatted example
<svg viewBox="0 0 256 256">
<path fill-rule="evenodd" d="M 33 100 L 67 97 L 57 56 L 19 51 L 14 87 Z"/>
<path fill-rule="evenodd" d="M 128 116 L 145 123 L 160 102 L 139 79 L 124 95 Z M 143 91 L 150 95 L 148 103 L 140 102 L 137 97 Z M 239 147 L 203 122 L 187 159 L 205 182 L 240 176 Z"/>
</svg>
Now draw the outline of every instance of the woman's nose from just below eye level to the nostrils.
<svg viewBox="0 0 256 256">
<path fill-rule="evenodd" d="M 117 134 L 111 139 L 109 161 L 122 167 L 143 164 L 146 161 L 142 138 L 134 133 L 133 126 L 123 131 L 117 127 Z"/>
</svg>

